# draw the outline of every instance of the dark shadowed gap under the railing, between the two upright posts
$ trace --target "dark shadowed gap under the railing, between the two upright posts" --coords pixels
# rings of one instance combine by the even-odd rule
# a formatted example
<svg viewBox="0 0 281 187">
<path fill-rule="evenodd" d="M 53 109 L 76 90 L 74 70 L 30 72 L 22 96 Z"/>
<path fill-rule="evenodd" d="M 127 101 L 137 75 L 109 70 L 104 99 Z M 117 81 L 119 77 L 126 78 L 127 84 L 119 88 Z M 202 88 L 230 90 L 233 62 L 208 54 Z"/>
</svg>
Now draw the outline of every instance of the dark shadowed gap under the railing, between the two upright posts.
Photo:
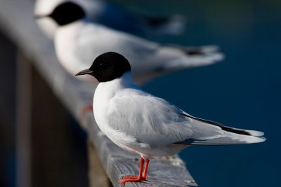
<svg viewBox="0 0 281 187">
<path fill-rule="evenodd" d="M 81 131 L 32 69 L 33 186 L 89 186 L 86 134 Z"/>
</svg>

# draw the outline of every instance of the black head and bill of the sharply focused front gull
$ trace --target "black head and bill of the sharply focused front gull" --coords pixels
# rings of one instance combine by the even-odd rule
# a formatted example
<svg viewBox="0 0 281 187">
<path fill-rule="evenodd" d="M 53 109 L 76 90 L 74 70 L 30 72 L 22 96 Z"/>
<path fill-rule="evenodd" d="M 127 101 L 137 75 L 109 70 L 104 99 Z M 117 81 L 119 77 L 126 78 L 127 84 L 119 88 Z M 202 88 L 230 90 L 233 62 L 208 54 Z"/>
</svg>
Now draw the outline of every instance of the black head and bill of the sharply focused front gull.
<svg viewBox="0 0 281 187">
<path fill-rule="evenodd" d="M 126 71 L 131 71 L 128 60 L 119 53 L 107 52 L 96 57 L 89 69 L 79 71 L 76 76 L 89 74 L 99 82 L 107 82 L 121 77 Z"/>
</svg>

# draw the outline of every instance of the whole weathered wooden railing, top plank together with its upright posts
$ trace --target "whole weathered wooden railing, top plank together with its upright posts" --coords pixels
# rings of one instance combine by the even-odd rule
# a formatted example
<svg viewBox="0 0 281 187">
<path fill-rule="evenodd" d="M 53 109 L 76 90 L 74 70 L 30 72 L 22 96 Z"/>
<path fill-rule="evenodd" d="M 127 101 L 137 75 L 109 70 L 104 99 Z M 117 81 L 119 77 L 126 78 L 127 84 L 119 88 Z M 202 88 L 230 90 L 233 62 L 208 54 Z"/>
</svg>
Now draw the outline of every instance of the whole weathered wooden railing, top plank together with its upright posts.
<svg viewBox="0 0 281 187">
<path fill-rule="evenodd" d="M 34 81 L 34 76 L 31 75 L 32 67 L 44 78 L 54 95 L 86 131 L 89 186 L 119 186 L 122 176 L 138 173 L 138 155 L 122 150 L 100 132 L 93 113 L 81 112 L 83 106 L 91 104 L 95 86 L 82 83 L 60 67 L 52 41 L 43 36 L 37 28 L 33 8 L 34 2 L 28 0 L 0 2 L 1 32 L 18 48 L 17 186 L 32 186 L 30 165 L 33 140 L 30 137 L 30 121 L 33 111 L 30 103 L 34 96 L 31 95 L 30 89 L 35 89 L 31 88 Z M 52 108 L 47 110 L 54 111 Z M 125 186 L 197 186 L 178 155 L 153 159 L 148 176 L 147 181 L 126 183 Z"/>
</svg>

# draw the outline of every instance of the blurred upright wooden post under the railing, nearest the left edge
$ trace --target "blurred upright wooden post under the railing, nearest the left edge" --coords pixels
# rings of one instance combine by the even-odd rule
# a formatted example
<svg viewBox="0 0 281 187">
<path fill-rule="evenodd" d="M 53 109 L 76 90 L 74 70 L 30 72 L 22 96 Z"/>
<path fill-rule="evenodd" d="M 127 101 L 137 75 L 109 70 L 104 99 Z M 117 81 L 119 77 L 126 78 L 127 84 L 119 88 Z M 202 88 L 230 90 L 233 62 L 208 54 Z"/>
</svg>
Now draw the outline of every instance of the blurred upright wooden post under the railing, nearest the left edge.
<svg viewBox="0 0 281 187">
<path fill-rule="evenodd" d="M 16 83 L 16 186 L 32 186 L 32 66 L 20 52 Z"/>
</svg>

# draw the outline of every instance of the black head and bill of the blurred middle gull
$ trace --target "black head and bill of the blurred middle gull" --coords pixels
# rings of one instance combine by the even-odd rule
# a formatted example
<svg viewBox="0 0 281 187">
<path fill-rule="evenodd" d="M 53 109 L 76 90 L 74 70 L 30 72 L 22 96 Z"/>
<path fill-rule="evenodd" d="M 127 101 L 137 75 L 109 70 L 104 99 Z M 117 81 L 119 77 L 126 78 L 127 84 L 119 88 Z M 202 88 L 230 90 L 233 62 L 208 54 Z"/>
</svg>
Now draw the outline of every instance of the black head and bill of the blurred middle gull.
<svg viewBox="0 0 281 187">
<path fill-rule="evenodd" d="M 84 18 L 84 16 L 84 10 L 80 6 L 72 2 L 65 2 L 63 4 L 60 4 L 55 8 L 55 10 L 53 10 L 50 15 L 48 15 L 48 17 L 53 18 L 53 20 L 55 20 L 58 25 L 67 25 L 71 22 Z M 37 18 L 41 17 L 43 16 L 37 16 Z"/>
</svg>

